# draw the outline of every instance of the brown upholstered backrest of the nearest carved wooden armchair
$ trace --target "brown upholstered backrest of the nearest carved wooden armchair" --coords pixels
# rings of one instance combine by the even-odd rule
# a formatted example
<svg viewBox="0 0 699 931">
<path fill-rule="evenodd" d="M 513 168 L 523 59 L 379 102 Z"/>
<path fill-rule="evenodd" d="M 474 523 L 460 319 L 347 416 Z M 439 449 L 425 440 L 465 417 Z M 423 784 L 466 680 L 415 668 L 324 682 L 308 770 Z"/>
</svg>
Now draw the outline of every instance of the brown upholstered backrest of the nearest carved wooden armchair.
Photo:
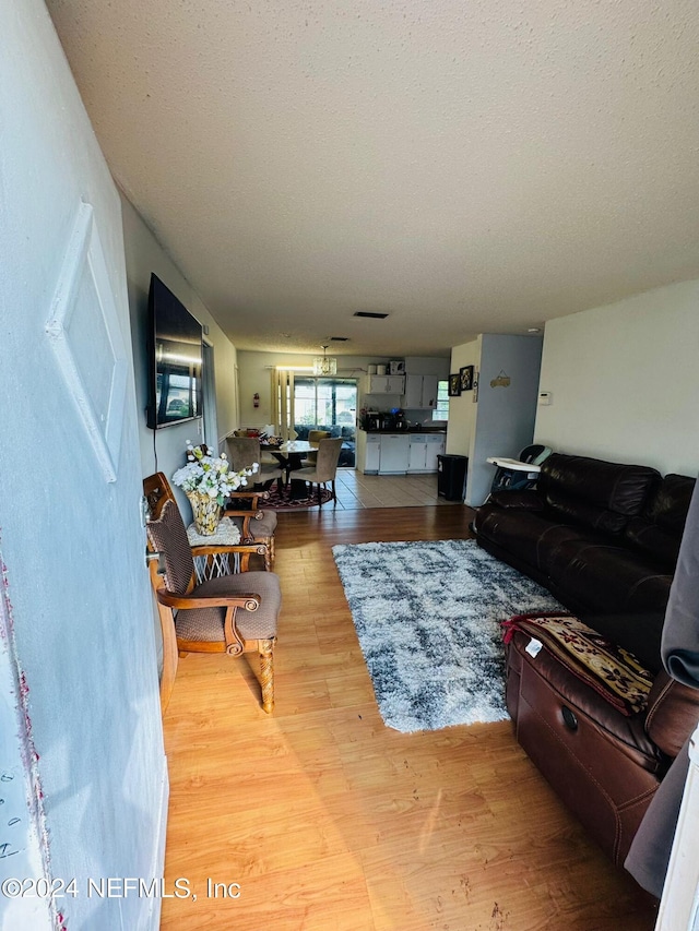
<svg viewBox="0 0 699 931">
<path fill-rule="evenodd" d="M 143 481 L 151 516 L 146 524 L 149 546 L 165 563 L 165 587 L 173 595 L 186 595 L 194 585 L 194 560 L 173 489 L 162 472 Z M 155 569 L 155 566 L 152 566 Z M 152 572 L 154 587 L 158 586 Z"/>
</svg>

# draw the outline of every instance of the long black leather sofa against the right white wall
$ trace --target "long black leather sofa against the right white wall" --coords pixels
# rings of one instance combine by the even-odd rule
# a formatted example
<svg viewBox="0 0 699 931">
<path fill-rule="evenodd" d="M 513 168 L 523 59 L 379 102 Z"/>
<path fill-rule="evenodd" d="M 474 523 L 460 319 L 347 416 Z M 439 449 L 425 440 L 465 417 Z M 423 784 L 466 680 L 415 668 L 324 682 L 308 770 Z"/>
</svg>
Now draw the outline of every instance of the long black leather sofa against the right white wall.
<svg viewBox="0 0 699 931">
<path fill-rule="evenodd" d="M 484 549 L 657 671 L 694 486 L 647 466 L 553 453 L 535 489 L 491 496 L 474 529 Z"/>
</svg>

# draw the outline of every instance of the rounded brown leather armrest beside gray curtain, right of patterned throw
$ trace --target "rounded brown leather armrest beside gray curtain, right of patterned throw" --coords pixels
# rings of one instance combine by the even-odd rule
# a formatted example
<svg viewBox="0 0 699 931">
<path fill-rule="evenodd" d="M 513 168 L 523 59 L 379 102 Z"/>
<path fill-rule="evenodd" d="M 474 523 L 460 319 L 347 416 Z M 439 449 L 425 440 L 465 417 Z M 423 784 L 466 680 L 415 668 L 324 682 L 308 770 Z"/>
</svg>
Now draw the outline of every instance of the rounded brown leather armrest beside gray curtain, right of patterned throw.
<svg viewBox="0 0 699 931">
<path fill-rule="evenodd" d="M 676 756 L 699 720 L 699 689 L 690 689 L 661 670 L 648 696 L 645 732 L 663 753 Z"/>
</svg>

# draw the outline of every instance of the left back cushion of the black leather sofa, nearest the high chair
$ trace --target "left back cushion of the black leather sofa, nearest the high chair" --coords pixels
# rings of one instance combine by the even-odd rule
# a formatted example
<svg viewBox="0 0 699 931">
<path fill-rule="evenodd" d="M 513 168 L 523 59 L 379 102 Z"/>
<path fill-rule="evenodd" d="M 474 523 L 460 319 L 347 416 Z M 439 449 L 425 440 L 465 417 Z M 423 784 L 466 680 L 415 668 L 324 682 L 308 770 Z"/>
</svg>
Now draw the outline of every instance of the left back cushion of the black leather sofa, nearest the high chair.
<svg viewBox="0 0 699 931">
<path fill-rule="evenodd" d="M 553 453 L 542 464 L 537 489 L 557 520 L 620 534 L 659 479 L 647 466 Z"/>
</svg>

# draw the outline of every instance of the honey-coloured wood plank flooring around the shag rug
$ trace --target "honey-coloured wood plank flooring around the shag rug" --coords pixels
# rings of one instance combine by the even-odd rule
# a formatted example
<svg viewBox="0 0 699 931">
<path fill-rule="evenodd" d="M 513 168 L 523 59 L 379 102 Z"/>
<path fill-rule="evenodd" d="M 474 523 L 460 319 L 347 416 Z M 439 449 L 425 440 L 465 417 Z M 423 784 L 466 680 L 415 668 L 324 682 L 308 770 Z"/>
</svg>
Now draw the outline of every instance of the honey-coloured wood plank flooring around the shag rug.
<svg viewBox="0 0 699 931">
<path fill-rule="evenodd" d="M 470 536 L 466 506 L 280 515 L 276 707 L 246 659 L 180 660 L 164 718 L 165 931 L 650 931 L 511 724 L 379 717 L 331 547 Z M 194 895 L 197 896 L 194 900 Z"/>
</svg>

